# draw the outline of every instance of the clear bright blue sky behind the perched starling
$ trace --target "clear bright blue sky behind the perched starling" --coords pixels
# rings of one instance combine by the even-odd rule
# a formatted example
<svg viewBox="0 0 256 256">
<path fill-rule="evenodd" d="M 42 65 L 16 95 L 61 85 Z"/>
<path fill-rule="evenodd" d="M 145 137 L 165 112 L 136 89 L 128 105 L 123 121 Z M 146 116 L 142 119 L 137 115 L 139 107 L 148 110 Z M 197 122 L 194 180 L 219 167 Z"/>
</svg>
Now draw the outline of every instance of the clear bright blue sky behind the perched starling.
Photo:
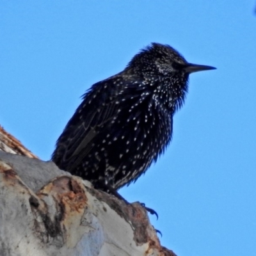
<svg viewBox="0 0 256 256">
<path fill-rule="evenodd" d="M 163 157 L 120 193 L 179 256 L 256 253 L 255 1 L 0 1 L 0 124 L 43 160 L 93 83 L 150 42 L 191 74 Z"/>
</svg>

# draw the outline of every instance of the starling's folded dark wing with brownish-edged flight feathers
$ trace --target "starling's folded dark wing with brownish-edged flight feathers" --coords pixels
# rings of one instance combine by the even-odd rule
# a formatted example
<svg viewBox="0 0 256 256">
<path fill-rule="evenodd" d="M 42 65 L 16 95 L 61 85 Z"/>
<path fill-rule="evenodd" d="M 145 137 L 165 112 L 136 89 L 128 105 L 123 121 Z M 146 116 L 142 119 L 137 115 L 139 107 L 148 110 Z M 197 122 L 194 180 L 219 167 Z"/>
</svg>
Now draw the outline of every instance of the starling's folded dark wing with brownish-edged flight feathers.
<svg viewBox="0 0 256 256">
<path fill-rule="evenodd" d="M 113 79 L 109 78 L 92 86 L 92 89 L 83 95 L 83 102 L 68 122 L 63 134 L 57 141 L 62 147 L 61 167 L 71 172 L 81 163 L 84 156 L 92 150 L 93 139 L 100 132 L 100 127 L 116 115 L 116 89 Z M 106 88 L 106 86 L 108 88 Z M 52 159 L 58 153 L 54 152 Z"/>
</svg>

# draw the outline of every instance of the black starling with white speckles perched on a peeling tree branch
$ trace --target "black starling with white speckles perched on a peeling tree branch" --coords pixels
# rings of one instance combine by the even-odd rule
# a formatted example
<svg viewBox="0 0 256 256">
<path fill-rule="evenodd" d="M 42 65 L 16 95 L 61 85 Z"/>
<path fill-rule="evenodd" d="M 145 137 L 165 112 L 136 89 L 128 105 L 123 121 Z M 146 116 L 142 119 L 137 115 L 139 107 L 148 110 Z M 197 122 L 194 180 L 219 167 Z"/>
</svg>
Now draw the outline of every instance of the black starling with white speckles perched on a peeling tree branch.
<svg viewBox="0 0 256 256">
<path fill-rule="evenodd" d="M 189 74 L 211 69 L 188 63 L 170 45 L 148 45 L 122 72 L 84 93 L 52 161 L 105 191 L 135 182 L 172 140 Z"/>
</svg>

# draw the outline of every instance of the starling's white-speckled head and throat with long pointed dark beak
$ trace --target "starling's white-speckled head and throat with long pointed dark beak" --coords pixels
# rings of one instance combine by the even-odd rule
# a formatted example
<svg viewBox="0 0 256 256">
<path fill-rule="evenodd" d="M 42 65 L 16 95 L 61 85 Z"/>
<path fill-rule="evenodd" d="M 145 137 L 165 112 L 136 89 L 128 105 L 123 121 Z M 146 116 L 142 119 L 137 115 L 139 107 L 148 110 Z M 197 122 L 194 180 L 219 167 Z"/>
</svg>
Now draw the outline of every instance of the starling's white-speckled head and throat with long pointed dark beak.
<svg viewBox="0 0 256 256">
<path fill-rule="evenodd" d="M 124 71 L 140 77 L 145 88 L 152 88 L 154 100 L 174 113 L 186 98 L 189 74 L 211 69 L 215 68 L 188 63 L 170 45 L 152 43 L 136 54 Z"/>
</svg>

